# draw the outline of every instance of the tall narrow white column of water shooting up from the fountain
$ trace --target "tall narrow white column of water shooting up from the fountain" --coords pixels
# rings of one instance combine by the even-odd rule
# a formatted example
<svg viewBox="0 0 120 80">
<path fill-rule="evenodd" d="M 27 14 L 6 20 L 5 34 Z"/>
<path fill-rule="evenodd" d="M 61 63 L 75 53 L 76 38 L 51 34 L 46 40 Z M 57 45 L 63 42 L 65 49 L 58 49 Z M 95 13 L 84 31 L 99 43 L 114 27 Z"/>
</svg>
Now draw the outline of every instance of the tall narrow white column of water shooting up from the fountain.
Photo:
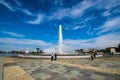
<svg viewBox="0 0 120 80">
<path fill-rule="evenodd" d="M 62 26 L 59 25 L 59 53 L 63 53 L 63 37 L 62 37 Z"/>
</svg>

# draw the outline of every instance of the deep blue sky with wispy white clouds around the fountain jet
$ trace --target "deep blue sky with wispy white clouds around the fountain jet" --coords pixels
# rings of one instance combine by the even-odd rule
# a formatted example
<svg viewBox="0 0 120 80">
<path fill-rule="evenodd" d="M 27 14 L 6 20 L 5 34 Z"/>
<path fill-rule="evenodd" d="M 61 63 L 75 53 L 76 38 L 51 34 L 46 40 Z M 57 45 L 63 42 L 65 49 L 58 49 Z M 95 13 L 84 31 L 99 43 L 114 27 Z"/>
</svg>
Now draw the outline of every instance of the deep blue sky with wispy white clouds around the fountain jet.
<svg viewBox="0 0 120 80">
<path fill-rule="evenodd" d="M 0 50 L 58 46 L 64 51 L 117 46 L 120 0 L 0 0 Z"/>
</svg>

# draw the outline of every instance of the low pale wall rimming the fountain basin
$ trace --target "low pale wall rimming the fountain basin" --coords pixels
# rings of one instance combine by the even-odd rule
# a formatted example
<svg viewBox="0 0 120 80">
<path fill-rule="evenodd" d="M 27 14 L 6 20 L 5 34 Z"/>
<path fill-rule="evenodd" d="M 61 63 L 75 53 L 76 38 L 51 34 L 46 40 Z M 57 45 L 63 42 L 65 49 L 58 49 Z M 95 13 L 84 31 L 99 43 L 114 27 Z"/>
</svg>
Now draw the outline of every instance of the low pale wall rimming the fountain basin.
<svg viewBox="0 0 120 80">
<path fill-rule="evenodd" d="M 96 57 L 102 57 L 103 55 L 97 55 Z M 33 55 L 18 55 L 21 58 L 51 58 L 51 56 L 33 56 Z M 90 58 L 90 55 L 86 56 L 57 56 L 57 58 Z"/>
</svg>

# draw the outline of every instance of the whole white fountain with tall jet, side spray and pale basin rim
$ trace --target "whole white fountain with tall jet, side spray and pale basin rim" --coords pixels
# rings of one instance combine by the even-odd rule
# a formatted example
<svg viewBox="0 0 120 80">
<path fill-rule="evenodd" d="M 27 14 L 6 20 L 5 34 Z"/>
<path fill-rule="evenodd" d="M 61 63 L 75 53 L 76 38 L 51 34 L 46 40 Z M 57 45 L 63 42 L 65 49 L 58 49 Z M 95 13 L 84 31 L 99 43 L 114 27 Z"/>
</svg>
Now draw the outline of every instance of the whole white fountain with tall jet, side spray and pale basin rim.
<svg viewBox="0 0 120 80">
<path fill-rule="evenodd" d="M 52 54 L 52 53 L 59 53 L 60 56 L 58 55 L 58 58 L 89 58 L 89 55 L 85 56 L 76 56 L 76 55 L 70 55 L 69 53 L 66 53 L 66 51 L 63 51 L 63 36 L 62 36 L 62 26 L 59 25 L 59 41 L 58 41 L 58 48 L 56 49 L 55 47 L 50 47 L 48 49 L 43 50 L 47 54 Z M 64 55 L 65 54 L 65 55 Z M 50 58 L 50 55 L 44 55 L 44 56 L 24 56 L 24 55 L 18 55 L 19 57 L 24 57 L 24 58 Z M 102 57 L 102 55 L 97 55 L 97 57 Z"/>
</svg>

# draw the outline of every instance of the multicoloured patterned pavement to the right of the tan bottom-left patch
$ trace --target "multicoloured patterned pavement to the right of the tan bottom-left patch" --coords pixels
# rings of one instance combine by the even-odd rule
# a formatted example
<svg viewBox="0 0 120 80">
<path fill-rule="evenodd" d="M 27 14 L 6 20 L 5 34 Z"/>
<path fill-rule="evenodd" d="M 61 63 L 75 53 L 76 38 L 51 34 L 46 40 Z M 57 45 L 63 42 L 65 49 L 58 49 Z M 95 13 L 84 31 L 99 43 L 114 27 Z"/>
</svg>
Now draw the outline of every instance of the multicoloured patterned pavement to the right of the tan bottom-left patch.
<svg viewBox="0 0 120 80">
<path fill-rule="evenodd" d="M 119 59 L 116 61 L 110 59 L 112 58 L 98 58 L 94 61 L 90 59 L 64 59 L 53 62 L 45 59 L 16 58 L 14 60 L 35 80 L 119 80 L 120 64 L 116 63 Z M 82 65 L 82 67 L 74 65 Z M 96 66 L 100 70 L 95 70 Z M 104 70 L 102 71 L 102 69 Z M 116 70 L 118 72 L 114 72 Z"/>
</svg>

